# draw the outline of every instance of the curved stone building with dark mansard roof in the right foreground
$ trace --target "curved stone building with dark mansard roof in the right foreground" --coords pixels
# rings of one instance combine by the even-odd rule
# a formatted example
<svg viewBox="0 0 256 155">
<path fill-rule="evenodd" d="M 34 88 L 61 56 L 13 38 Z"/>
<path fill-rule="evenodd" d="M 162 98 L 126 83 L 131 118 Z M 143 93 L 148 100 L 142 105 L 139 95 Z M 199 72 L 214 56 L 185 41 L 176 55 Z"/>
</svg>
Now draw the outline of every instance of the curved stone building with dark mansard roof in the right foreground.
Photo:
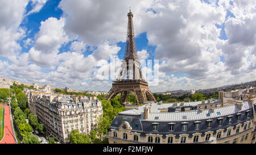
<svg viewBox="0 0 256 155">
<path fill-rule="evenodd" d="M 119 112 L 109 143 L 255 143 L 255 98 L 149 103 Z M 223 102 L 228 100 L 228 102 Z"/>
</svg>

